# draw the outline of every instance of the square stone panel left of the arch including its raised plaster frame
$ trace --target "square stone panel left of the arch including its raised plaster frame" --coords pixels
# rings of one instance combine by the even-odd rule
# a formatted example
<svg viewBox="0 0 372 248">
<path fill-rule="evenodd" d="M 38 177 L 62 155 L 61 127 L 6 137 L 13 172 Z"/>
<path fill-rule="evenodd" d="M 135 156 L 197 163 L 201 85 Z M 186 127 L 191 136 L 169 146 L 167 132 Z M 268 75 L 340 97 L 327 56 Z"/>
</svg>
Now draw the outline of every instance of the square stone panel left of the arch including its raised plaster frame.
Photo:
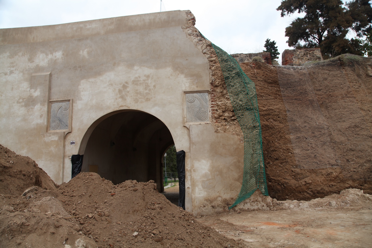
<svg viewBox="0 0 372 248">
<path fill-rule="evenodd" d="M 68 103 L 68 107 L 66 104 Z M 47 132 L 71 132 L 71 124 L 72 124 L 72 107 L 73 107 L 72 99 L 65 99 L 65 100 L 58 100 L 58 101 L 49 101 L 48 105 L 48 124 L 47 124 Z M 60 106 L 61 105 L 61 106 Z M 67 109 L 65 109 L 67 108 Z M 58 118 L 61 118 L 63 123 L 57 123 Z M 66 120 L 67 117 L 67 120 Z M 65 125 L 67 124 L 67 127 Z"/>
</svg>

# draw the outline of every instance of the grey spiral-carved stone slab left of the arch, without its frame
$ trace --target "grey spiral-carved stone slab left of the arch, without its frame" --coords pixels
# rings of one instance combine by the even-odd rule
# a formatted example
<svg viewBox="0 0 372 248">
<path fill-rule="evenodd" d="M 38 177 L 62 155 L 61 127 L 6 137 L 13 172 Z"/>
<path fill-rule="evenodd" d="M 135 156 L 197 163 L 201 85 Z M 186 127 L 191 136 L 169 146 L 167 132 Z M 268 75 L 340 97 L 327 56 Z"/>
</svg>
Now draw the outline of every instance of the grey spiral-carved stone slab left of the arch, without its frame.
<svg viewBox="0 0 372 248">
<path fill-rule="evenodd" d="M 68 130 L 70 101 L 52 102 L 50 106 L 49 131 Z"/>
</svg>

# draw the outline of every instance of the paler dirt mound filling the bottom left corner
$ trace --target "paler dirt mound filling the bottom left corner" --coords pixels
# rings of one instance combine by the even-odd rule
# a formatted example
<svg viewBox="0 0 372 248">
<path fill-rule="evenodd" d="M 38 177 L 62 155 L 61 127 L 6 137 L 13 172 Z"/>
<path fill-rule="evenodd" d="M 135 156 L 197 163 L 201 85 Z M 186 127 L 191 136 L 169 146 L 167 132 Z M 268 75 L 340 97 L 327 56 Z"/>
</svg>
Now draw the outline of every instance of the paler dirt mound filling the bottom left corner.
<svg viewBox="0 0 372 248">
<path fill-rule="evenodd" d="M 48 196 L 50 193 L 35 191 L 30 193 L 32 195 L 28 194 L 22 197 L 0 195 L 2 206 L 0 208 L 1 248 L 68 248 L 65 245 L 75 247 L 75 242 L 80 238 L 89 244 L 89 238 L 78 235 L 79 226 L 69 219 L 71 216 L 64 210 L 60 201 L 55 197 Z M 91 240 L 91 243 L 94 244 L 94 241 Z"/>
</svg>

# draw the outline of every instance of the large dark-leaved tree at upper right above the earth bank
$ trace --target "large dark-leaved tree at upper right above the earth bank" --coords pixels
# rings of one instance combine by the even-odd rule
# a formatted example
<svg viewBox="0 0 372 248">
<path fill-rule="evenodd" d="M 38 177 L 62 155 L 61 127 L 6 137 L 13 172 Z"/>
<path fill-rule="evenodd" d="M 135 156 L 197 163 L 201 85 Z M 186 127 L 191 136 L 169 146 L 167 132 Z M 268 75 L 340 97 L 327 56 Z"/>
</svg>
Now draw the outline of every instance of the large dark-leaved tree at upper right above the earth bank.
<svg viewBox="0 0 372 248">
<path fill-rule="evenodd" d="M 319 47 L 324 58 L 343 53 L 361 55 L 355 41 L 346 38 L 349 31 L 358 37 L 372 30 L 369 0 L 353 0 L 344 7 L 341 0 L 283 0 L 277 10 L 281 16 L 305 13 L 286 29 L 288 45 L 304 42 L 307 48 Z"/>
</svg>

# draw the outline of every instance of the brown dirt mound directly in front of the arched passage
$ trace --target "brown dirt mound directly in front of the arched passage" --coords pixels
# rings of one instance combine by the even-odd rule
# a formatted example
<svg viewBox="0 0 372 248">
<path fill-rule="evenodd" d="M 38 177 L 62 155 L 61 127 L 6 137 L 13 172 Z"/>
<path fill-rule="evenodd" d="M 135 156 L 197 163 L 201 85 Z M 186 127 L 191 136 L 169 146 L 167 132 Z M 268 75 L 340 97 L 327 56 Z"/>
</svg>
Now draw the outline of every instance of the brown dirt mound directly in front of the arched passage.
<svg viewBox="0 0 372 248">
<path fill-rule="evenodd" d="M 118 185 L 80 173 L 60 187 L 58 197 L 99 247 L 239 247 L 190 213 L 171 204 L 153 181 Z M 81 216 L 81 217 L 77 217 Z M 243 246 L 243 245 L 242 245 Z"/>
</svg>

